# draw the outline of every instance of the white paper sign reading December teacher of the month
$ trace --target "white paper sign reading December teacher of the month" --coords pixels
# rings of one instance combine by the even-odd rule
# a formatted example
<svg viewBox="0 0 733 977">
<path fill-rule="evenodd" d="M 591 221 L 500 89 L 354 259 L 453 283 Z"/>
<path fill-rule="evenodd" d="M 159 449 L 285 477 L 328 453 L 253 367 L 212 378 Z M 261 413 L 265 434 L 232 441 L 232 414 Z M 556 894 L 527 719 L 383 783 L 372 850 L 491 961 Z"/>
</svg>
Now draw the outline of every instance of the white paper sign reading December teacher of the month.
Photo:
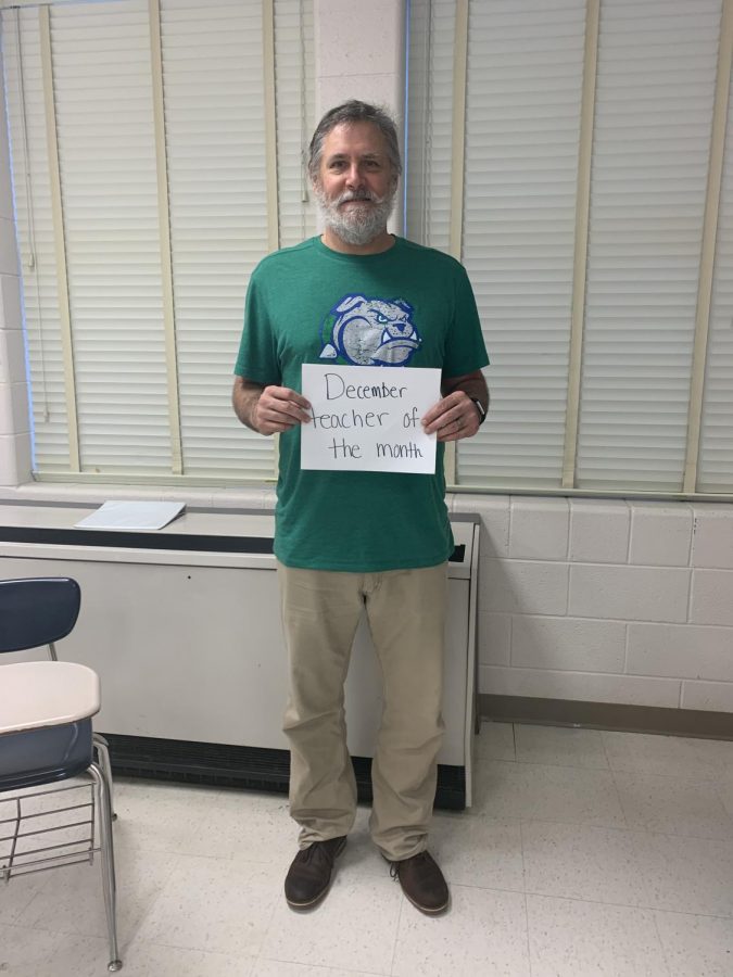
<svg viewBox="0 0 733 977">
<path fill-rule="evenodd" d="M 440 370 L 303 365 L 312 419 L 301 468 L 433 474 L 435 435 L 421 420 L 440 399 Z"/>
</svg>

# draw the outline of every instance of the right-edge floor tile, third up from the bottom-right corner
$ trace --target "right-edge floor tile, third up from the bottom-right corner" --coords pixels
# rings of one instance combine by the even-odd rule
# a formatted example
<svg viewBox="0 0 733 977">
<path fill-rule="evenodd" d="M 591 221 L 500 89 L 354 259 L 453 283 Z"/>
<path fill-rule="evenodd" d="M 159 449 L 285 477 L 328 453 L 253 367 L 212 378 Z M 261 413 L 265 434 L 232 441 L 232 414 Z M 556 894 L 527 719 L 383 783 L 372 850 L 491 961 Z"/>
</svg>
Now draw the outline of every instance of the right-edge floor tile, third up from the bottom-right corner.
<svg viewBox="0 0 733 977">
<path fill-rule="evenodd" d="M 614 776 L 630 828 L 733 841 L 733 816 L 725 811 L 710 781 L 682 781 L 652 774 Z"/>
</svg>

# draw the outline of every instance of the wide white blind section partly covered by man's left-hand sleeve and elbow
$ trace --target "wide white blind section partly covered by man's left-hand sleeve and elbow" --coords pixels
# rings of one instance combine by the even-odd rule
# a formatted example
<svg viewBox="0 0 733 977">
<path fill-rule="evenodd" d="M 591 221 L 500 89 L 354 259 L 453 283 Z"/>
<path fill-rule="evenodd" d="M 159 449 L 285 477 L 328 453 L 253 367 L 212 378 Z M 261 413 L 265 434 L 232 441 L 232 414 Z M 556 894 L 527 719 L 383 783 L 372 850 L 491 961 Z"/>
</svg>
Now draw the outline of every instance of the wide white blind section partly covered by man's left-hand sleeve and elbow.
<svg viewBox="0 0 733 977">
<path fill-rule="evenodd" d="M 268 251 L 262 4 L 163 0 L 161 46 L 184 473 L 266 478 L 231 410 L 252 269 Z"/>
</svg>

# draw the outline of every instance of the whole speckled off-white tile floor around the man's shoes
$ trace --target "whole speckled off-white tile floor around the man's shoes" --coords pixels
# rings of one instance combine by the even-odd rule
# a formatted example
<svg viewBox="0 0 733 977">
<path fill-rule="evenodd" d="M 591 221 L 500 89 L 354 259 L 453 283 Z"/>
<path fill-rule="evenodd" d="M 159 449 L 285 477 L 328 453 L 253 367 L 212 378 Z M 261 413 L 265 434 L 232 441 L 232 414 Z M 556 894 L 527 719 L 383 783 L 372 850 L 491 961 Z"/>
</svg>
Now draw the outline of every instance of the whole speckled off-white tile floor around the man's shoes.
<svg viewBox="0 0 733 977">
<path fill-rule="evenodd" d="M 733 975 L 733 743 L 484 723 L 476 803 L 437 813 L 452 908 L 405 901 L 359 809 L 327 900 L 288 910 L 274 795 L 119 781 L 128 977 Z M 0 974 L 106 973 L 97 867 L 0 888 Z"/>
</svg>

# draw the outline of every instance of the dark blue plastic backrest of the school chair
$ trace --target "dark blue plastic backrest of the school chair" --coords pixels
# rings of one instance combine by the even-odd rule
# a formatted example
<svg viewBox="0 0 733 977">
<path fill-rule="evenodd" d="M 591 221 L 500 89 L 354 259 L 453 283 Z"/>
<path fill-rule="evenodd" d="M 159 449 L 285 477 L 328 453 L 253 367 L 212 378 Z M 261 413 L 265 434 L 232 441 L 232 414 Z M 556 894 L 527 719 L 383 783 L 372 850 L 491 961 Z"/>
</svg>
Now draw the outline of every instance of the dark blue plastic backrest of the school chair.
<svg viewBox="0 0 733 977">
<path fill-rule="evenodd" d="M 0 652 L 66 637 L 80 604 L 79 585 L 67 576 L 0 580 Z"/>
</svg>

